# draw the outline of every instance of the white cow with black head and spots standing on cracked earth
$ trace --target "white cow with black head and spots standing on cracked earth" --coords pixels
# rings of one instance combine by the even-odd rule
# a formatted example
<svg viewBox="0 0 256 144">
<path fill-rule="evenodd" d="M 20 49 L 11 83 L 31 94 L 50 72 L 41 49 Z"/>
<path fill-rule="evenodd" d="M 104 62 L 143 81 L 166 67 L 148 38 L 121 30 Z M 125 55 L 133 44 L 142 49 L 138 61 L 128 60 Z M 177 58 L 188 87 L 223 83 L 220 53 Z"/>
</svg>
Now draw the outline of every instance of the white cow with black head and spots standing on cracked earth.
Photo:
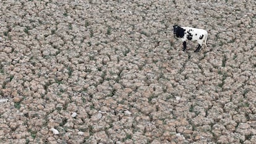
<svg viewBox="0 0 256 144">
<path fill-rule="evenodd" d="M 183 51 L 187 48 L 186 40 L 192 40 L 198 42 L 198 48 L 195 52 L 198 52 L 202 48 L 203 41 L 207 42 L 208 33 L 206 30 L 192 28 L 192 27 L 179 27 L 178 25 L 173 26 L 173 33 L 183 41 Z"/>
</svg>

